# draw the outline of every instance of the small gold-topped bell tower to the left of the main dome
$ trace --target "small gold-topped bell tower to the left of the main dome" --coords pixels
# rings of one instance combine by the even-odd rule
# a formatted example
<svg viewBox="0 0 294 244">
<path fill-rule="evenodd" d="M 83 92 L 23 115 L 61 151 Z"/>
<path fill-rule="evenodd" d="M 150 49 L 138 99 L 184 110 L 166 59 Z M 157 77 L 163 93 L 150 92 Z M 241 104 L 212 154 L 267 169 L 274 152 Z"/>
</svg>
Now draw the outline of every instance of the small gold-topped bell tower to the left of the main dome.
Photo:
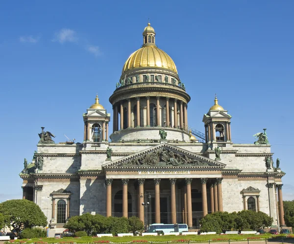
<svg viewBox="0 0 294 244">
<path fill-rule="evenodd" d="M 110 113 L 99 104 L 98 95 L 95 100 L 95 103 L 83 114 L 84 142 L 108 142 Z"/>
</svg>

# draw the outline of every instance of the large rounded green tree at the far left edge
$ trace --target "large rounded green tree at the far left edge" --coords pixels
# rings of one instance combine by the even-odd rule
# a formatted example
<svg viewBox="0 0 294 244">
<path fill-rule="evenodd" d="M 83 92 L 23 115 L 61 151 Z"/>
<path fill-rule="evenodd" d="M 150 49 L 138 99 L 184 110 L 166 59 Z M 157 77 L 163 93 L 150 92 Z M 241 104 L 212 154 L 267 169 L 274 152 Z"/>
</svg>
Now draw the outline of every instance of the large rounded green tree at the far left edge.
<svg viewBox="0 0 294 244">
<path fill-rule="evenodd" d="M 47 218 L 40 207 L 29 200 L 8 200 L 0 203 L 0 214 L 4 223 L 13 228 L 17 236 L 25 228 L 46 226 Z"/>
</svg>

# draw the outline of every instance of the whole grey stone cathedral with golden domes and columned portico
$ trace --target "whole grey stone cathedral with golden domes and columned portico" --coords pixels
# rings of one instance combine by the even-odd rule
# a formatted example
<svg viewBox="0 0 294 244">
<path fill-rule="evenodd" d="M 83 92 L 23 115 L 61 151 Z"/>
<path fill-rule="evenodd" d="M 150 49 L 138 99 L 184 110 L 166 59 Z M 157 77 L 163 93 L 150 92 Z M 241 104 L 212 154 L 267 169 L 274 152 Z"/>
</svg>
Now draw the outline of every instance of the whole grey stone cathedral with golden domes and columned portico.
<svg viewBox="0 0 294 244">
<path fill-rule="evenodd" d="M 83 114 L 82 143 L 54 143 L 42 127 L 32 162 L 25 160 L 23 199 L 43 210 L 49 235 L 84 213 L 196 229 L 209 213 L 245 209 L 285 225 L 285 173 L 279 159 L 273 166 L 266 129 L 254 144 L 234 144 L 232 116 L 217 97 L 204 111 L 204 133 L 191 128 L 189 90 L 150 23 L 142 41 L 109 98 L 112 115 L 97 96 Z"/>
</svg>

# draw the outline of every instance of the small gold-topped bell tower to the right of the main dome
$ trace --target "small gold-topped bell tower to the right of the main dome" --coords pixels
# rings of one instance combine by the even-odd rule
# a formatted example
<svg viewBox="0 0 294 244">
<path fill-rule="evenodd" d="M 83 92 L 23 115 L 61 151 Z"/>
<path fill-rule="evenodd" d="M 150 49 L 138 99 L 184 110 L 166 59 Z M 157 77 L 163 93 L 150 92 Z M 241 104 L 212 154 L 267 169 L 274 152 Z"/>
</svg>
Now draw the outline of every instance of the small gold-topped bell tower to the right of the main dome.
<svg viewBox="0 0 294 244">
<path fill-rule="evenodd" d="M 231 143 L 231 118 L 227 110 L 220 105 L 217 95 L 215 104 L 203 115 L 206 143 Z M 223 145 L 225 146 L 225 145 Z"/>
</svg>

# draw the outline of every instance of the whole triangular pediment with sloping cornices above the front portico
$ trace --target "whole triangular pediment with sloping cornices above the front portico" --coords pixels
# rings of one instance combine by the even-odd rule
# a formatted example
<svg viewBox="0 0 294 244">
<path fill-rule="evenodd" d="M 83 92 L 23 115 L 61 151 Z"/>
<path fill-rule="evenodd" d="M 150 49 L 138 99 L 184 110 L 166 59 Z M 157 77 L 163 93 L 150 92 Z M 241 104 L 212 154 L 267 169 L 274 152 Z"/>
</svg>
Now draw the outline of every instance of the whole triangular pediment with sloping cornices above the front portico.
<svg viewBox="0 0 294 244">
<path fill-rule="evenodd" d="M 105 163 L 103 168 L 224 168 L 216 160 L 163 143 L 133 155 Z"/>
</svg>

